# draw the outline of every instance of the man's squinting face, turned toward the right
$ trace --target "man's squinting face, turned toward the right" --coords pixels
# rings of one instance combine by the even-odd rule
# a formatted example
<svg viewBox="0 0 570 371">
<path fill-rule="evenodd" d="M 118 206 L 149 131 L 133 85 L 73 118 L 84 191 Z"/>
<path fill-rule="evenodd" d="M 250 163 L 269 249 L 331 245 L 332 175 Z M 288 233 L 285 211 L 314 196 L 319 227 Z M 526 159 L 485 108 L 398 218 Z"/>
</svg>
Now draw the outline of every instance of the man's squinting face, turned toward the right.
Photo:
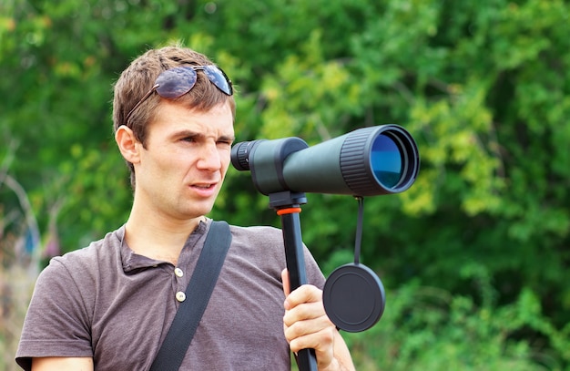
<svg viewBox="0 0 570 371">
<path fill-rule="evenodd" d="M 186 221 L 211 211 L 234 140 L 229 104 L 207 112 L 161 102 L 135 164 L 136 200 L 147 212 Z"/>
</svg>

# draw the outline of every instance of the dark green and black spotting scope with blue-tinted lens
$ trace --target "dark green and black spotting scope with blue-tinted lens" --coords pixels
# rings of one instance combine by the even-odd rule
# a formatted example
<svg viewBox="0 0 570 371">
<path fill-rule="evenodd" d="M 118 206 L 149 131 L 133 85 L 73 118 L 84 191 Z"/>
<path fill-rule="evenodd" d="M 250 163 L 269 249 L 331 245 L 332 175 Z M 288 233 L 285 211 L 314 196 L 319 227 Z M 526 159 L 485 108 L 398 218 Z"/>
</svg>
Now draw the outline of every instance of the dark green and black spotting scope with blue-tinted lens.
<svg viewBox="0 0 570 371">
<path fill-rule="evenodd" d="M 412 135 L 398 125 L 353 130 L 312 147 L 300 138 L 236 143 L 231 163 L 258 191 L 375 196 L 406 191 L 420 170 Z"/>
</svg>

